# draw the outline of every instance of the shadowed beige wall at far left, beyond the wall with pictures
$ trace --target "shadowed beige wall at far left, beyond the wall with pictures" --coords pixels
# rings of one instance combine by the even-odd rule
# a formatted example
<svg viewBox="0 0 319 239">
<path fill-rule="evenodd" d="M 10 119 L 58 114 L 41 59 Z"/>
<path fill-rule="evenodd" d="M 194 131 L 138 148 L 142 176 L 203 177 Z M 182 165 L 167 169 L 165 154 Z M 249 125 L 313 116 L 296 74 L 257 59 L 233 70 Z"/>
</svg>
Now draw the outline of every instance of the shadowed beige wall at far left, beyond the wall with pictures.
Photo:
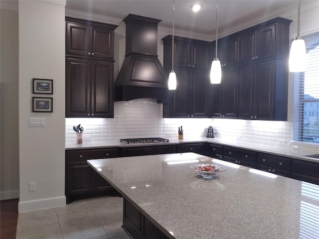
<svg viewBox="0 0 319 239">
<path fill-rule="evenodd" d="M 19 197 L 18 12 L 1 9 L 0 199 Z"/>
</svg>

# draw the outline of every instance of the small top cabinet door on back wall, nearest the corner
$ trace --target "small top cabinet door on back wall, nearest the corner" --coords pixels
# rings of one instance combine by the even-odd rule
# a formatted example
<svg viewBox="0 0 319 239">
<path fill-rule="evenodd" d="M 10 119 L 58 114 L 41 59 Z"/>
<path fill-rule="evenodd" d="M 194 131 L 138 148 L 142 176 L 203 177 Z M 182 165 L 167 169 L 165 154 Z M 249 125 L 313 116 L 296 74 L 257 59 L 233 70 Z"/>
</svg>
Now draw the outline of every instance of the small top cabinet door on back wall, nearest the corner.
<svg viewBox="0 0 319 239">
<path fill-rule="evenodd" d="M 207 69 L 210 65 L 209 47 L 205 44 L 192 43 L 192 63 L 195 69 Z"/>
</svg>

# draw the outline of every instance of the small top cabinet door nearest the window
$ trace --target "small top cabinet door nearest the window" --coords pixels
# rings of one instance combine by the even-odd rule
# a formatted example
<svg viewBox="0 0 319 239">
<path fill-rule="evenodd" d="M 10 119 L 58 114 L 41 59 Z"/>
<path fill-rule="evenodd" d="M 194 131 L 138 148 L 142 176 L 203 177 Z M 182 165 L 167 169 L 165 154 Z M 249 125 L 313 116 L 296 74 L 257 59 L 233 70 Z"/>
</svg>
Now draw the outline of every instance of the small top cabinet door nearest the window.
<svg viewBox="0 0 319 239">
<path fill-rule="evenodd" d="M 261 27 L 256 35 L 256 56 L 258 59 L 276 55 L 276 24 Z"/>
</svg>

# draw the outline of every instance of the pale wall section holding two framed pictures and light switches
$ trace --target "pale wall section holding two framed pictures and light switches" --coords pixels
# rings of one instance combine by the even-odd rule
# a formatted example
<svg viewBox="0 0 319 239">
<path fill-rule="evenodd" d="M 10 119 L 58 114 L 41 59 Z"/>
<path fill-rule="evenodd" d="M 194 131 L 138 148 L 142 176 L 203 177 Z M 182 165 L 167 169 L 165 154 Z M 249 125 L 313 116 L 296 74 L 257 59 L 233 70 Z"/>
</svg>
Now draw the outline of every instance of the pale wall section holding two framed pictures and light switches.
<svg viewBox="0 0 319 239">
<path fill-rule="evenodd" d="M 19 212 L 65 205 L 64 22 L 65 1 L 19 1 Z M 32 78 L 53 79 L 53 113 L 32 113 Z M 29 127 L 30 117 L 45 126 Z"/>
</svg>

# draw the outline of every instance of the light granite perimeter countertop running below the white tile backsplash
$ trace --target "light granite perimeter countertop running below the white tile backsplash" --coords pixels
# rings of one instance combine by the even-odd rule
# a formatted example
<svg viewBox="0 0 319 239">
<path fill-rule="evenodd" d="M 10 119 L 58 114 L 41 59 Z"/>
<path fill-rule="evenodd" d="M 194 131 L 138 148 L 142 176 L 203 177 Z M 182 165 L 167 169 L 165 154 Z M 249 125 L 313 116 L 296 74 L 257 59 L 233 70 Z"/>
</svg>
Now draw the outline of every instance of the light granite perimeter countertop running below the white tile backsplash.
<svg viewBox="0 0 319 239">
<path fill-rule="evenodd" d="M 181 143 L 199 143 L 199 142 L 210 142 L 221 144 L 224 146 L 232 146 L 241 149 L 254 150 L 258 152 L 271 153 L 278 156 L 287 156 L 290 158 L 296 158 L 306 161 L 319 162 L 319 159 L 305 157 L 304 155 L 316 154 L 316 152 L 310 152 L 307 150 L 292 148 L 289 145 L 284 146 L 273 146 L 258 143 L 245 142 L 240 140 L 229 140 L 223 138 L 207 138 L 207 137 L 184 137 L 183 139 L 169 138 L 169 142 L 164 143 L 136 143 L 126 144 L 118 141 L 92 141 L 84 142 L 83 144 L 66 143 L 65 149 L 94 149 L 94 148 L 108 148 L 108 147 L 141 147 L 141 146 L 155 146 L 155 145 L 167 145 L 167 144 L 181 144 Z M 317 153 L 318 154 L 318 153 Z"/>
</svg>

